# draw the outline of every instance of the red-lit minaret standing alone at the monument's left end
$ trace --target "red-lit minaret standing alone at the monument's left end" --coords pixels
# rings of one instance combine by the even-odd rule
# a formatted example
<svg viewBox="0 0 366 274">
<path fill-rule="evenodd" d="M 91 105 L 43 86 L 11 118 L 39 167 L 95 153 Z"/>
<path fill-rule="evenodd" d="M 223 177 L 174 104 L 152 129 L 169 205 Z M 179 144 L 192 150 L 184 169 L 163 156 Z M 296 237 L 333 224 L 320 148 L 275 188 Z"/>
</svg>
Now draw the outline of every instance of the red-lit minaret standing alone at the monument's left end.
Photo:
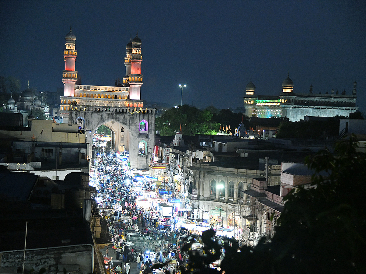
<svg viewBox="0 0 366 274">
<path fill-rule="evenodd" d="M 76 36 L 70 32 L 66 34 L 66 48 L 64 49 L 65 70 L 62 72 L 62 82 L 65 85 L 64 96 L 75 95 L 75 82 L 78 80 L 78 72 L 75 71 L 77 50 L 75 49 Z"/>
</svg>

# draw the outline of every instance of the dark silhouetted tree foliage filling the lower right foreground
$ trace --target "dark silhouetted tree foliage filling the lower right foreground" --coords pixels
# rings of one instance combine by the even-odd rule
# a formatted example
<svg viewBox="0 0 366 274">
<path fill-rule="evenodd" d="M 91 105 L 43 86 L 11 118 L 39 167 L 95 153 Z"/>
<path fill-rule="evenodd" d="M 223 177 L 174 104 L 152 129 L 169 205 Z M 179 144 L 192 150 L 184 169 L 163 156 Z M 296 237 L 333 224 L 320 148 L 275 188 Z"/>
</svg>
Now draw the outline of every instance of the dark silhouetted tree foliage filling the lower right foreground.
<svg viewBox="0 0 366 274">
<path fill-rule="evenodd" d="M 337 143 L 334 154 L 324 149 L 306 164 L 314 171 L 311 185 L 284 198 L 269 242 L 239 247 L 225 239 L 221 246 L 213 230 L 203 232 L 204 254 L 184 247 L 190 259 L 182 273 L 365 273 L 365 148 L 360 151 L 352 137 Z M 212 269 L 221 247 L 220 269 Z"/>
</svg>

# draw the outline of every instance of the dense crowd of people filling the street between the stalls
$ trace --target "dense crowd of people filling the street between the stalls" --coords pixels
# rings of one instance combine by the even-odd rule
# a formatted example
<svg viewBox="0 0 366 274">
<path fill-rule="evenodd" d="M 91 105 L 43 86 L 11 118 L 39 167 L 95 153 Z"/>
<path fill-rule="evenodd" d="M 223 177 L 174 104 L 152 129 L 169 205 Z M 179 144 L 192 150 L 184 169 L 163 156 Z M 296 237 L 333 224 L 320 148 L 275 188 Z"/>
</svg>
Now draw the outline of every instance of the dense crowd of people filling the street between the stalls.
<svg viewBox="0 0 366 274">
<path fill-rule="evenodd" d="M 166 221 L 159 216 L 153 205 L 150 208 L 139 208 L 137 206 L 137 195 L 142 191 L 151 190 L 151 184 L 146 182 L 138 183 L 132 174 L 128 174 L 127 168 L 115 154 L 103 155 L 96 159 L 94 173 L 91 181 L 97 189 L 96 200 L 102 217 L 108 223 L 109 236 L 116 252 L 116 259 L 125 262 L 125 270 L 114 267 L 110 273 L 126 273 L 130 271 L 130 259 L 137 256 L 137 269 L 141 274 L 153 272 L 153 264 L 156 262 L 165 263 L 168 259 L 176 259 L 176 264 L 183 264 L 186 260 L 184 254 L 180 254 L 180 246 L 177 246 L 179 236 L 184 230 L 172 230 L 172 222 L 164 227 L 164 233 L 154 233 L 159 225 Z M 138 193 L 135 186 L 139 185 Z M 172 219 L 173 224 L 175 222 Z M 145 253 L 145 250 L 136 250 L 124 239 L 123 231 L 141 232 L 155 239 L 164 240 L 160 247 L 152 250 L 154 257 Z M 132 255 L 130 255 L 132 254 Z M 108 255 L 108 254 L 107 254 Z"/>
</svg>

